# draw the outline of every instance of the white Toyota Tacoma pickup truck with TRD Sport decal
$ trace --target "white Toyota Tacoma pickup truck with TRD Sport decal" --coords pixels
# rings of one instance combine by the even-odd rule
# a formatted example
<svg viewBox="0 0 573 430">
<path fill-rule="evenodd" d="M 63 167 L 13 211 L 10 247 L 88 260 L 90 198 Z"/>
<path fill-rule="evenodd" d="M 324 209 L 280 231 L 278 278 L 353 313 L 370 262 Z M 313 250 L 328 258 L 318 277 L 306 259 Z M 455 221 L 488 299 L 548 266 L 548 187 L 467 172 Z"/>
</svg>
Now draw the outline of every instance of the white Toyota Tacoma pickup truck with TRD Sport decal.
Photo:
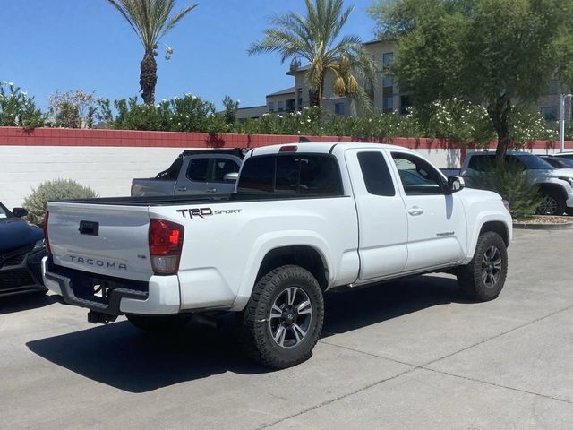
<svg viewBox="0 0 573 430">
<path fill-rule="evenodd" d="M 143 330 L 238 313 L 242 345 L 294 366 L 321 334 L 323 294 L 433 271 L 498 297 L 511 216 L 413 150 L 302 143 L 250 150 L 235 193 L 49 202 L 47 288 Z"/>
</svg>

